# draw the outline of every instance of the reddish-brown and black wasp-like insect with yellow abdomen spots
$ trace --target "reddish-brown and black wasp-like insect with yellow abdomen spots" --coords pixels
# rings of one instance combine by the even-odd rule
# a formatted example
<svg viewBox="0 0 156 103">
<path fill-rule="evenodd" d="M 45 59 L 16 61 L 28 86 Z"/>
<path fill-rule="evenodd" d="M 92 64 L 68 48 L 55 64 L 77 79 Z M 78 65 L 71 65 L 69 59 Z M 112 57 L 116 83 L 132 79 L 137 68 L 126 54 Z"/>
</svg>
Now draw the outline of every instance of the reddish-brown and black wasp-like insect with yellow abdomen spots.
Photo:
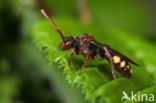
<svg viewBox="0 0 156 103">
<path fill-rule="evenodd" d="M 129 63 L 132 63 L 136 66 L 138 64 L 123 54 L 119 53 L 116 50 L 113 50 L 106 44 L 101 44 L 97 42 L 93 36 L 89 34 L 78 34 L 76 37 L 72 36 L 63 36 L 62 32 L 58 28 L 58 26 L 54 23 L 52 19 L 47 15 L 44 9 L 41 9 L 41 13 L 53 24 L 56 31 L 62 38 L 62 42 L 60 43 L 60 48 L 65 51 L 72 49 L 70 57 L 69 57 L 69 66 L 72 70 L 76 71 L 71 67 L 71 59 L 73 54 L 76 53 L 85 55 L 84 64 L 81 67 L 79 72 L 79 76 L 83 72 L 89 58 L 91 57 L 94 60 L 94 57 L 97 57 L 99 60 L 107 59 L 112 67 L 112 75 L 114 80 L 118 83 L 117 77 L 115 75 L 115 70 L 124 76 L 130 78 L 132 76 L 132 70 L 130 68 Z"/>
</svg>

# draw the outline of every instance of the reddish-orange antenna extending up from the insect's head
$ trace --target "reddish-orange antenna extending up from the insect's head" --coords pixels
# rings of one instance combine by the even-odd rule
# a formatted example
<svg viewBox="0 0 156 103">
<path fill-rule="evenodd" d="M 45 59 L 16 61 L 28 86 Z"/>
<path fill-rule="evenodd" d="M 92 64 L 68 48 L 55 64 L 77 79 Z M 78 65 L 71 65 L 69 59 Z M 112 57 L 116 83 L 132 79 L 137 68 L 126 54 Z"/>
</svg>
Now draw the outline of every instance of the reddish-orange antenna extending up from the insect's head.
<svg viewBox="0 0 156 103">
<path fill-rule="evenodd" d="M 60 34 L 62 40 L 64 41 L 64 36 L 62 32 L 60 31 L 59 27 L 54 23 L 52 19 L 50 19 L 50 17 L 48 16 L 48 14 L 45 12 L 44 9 L 41 9 L 41 13 L 51 22 L 51 24 L 55 27 L 56 31 Z"/>
</svg>

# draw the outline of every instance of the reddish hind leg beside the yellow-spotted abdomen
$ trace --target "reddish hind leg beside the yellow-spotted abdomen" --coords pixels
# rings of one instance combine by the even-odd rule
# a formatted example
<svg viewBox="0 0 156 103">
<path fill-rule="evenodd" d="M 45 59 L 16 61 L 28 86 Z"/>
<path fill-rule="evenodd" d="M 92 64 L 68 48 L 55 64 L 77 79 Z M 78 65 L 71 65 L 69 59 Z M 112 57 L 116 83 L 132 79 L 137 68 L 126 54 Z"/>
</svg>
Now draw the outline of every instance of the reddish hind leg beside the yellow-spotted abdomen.
<svg viewBox="0 0 156 103">
<path fill-rule="evenodd" d="M 109 51 L 108 51 L 108 49 L 107 49 L 106 47 L 103 47 L 103 49 L 105 50 L 106 56 L 107 56 L 107 58 L 109 59 L 110 64 L 111 64 L 111 66 L 112 66 L 112 75 L 113 75 L 113 78 L 114 78 L 114 80 L 116 81 L 116 83 L 119 83 L 118 80 L 117 80 L 117 77 L 116 77 L 116 75 L 115 75 L 115 65 L 114 65 L 114 63 L 113 63 L 112 56 L 111 56 L 111 54 L 109 53 Z"/>
</svg>

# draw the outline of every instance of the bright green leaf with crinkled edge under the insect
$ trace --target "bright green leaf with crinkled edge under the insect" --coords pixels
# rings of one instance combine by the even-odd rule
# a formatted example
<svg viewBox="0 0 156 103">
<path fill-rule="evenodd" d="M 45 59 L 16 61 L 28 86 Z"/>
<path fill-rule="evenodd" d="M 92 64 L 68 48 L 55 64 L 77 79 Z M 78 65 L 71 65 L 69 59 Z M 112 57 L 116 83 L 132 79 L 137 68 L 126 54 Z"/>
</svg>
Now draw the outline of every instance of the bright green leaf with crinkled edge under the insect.
<svg viewBox="0 0 156 103">
<path fill-rule="evenodd" d="M 81 55 L 74 56 L 72 59 L 72 67 L 76 68 L 78 71 L 72 71 L 68 66 L 70 50 L 62 51 L 59 48 L 61 38 L 47 20 L 38 21 L 34 25 L 31 33 L 36 46 L 45 53 L 50 63 L 55 62 L 59 65 L 59 69 L 63 69 L 63 74 L 71 85 L 77 85 L 82 89 L 82 93 L 85 94 L 86 100 L 96 103 L 121 102 L 123 90 L 128 94 L 130 94 L 131 91 L 136 93 L 137 91 L 148 88 L 154 84 L 155 79 L 153 76 L 155 76 L 156 72 L 149 73 L 150 68 L 146 67 L 146 65 L 156 67 L 153 64 L 155 62 L 154 57 L 148 57 L 148 53 L 151 53 L 149 55 L 154 54 L 154 52 L 152 52 L 152 50 L 155 50 L 154 46 L 150 46 L 150 44 L 138 37 L 133 37 L 129 34 L 125 35 L 122 31 L 111 30 L 109 32 L 104 32 L 96 27 L 85 27 L 70 17 L 57 18 L 54 19 L 54 21 L 59 25 L 64 35 L 69 34 L 76 36 L 79 33 L 92 34 L 97 41 L 107 43 L 111 47 L 121 50 L 121 52 L 124 51 L 124 54 L 133 58 L 135 61 L 139 61 L 139 64 L 141 65 L 140 67 L 132 66 L 133 76 L 131 79 L 127 79 L 119 73 L 116 73 L 120 84 L 117 84 L 113 80 L 111 67 L 106 60 L 90 60 L 82 75 L 79 77 L 77 75 L 84 62 L 84 57 Z M 115 33 L 118 35 L 112 35 Z M 132 40 L 133 42 L 131 42 Z M 153 49 L 146 50 L 150 47 Z M 144 53 L 147 52 L 146 56 L 143 55 L 140 58 L 138 56 L 140 52 L 137 52 L 137 50 Z M 148 59 L 142 60 L 142 58 Z M 147 69 L 149 69 L 149 71 L 147 71 Z"/>
</svg>

